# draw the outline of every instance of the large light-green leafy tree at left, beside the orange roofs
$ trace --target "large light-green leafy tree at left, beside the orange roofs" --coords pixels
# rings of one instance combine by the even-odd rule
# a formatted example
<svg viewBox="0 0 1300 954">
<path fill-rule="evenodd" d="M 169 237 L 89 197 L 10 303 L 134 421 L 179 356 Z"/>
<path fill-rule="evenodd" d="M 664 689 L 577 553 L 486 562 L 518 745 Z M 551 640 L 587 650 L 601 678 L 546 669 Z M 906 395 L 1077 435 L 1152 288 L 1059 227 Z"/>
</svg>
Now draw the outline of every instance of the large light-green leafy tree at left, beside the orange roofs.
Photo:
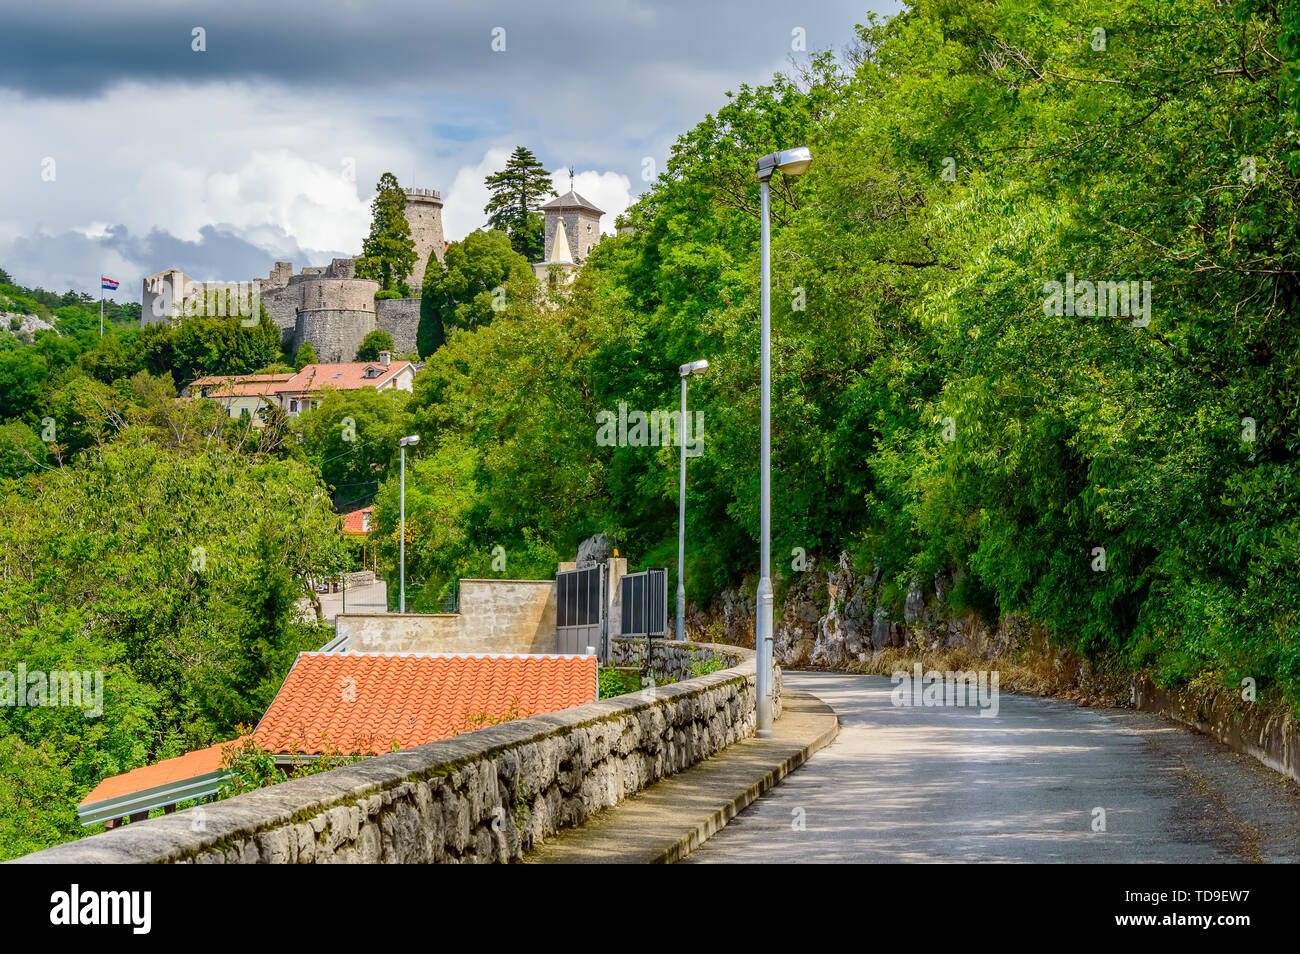
<svg viewBox="0 0 1300 954">
<path fill-rule="evenodd" d="M 103 673 L 100 714 L 0 707 L 5 857 L 79 834 L 75 803 L 104 776 L 260 717 L 294 655 L 325 639 L 295 608 L 343 565 L 321 491 L 302 463 L 134 428 L 0 483 L 0 669 Z"/>
</svg>

